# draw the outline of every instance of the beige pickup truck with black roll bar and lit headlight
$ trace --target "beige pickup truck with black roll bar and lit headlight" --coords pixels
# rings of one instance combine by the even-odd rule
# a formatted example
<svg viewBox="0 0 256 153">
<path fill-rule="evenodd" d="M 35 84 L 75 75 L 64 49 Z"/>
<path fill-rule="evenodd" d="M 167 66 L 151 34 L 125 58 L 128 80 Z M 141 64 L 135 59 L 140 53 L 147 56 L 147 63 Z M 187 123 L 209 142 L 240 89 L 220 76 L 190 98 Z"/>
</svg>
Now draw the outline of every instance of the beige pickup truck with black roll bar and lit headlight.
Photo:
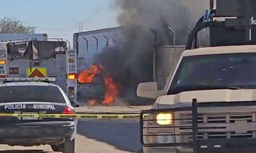
<svg viewBox="0 0 256 153">
<path fill-rule="evenodd" d="M 166 85 L 139 84 L 156 99 L 140 115 L 144 153 L 252 153 L 256 150 L 256 1 L 210 0 Z M 225 19 L 225 20 L 222 20 Z M 197 33 L 210 30 L 210 47 Z"/>
</svg>

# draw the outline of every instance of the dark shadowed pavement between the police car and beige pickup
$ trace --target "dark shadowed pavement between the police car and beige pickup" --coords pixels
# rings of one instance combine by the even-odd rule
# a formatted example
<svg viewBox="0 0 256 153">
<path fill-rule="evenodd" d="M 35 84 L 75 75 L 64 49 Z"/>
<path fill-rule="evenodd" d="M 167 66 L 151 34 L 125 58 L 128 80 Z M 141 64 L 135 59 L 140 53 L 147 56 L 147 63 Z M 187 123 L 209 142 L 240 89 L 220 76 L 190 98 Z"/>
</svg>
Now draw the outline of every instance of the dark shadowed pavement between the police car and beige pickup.
<svg viewBox="0 0 256 153">
<path fill-rule="evenodd" d="M 79 120 L 77 133 L 120 150 L 138 152 L 141 149 L 139 129 L 138 119 Z"/>
</svg>

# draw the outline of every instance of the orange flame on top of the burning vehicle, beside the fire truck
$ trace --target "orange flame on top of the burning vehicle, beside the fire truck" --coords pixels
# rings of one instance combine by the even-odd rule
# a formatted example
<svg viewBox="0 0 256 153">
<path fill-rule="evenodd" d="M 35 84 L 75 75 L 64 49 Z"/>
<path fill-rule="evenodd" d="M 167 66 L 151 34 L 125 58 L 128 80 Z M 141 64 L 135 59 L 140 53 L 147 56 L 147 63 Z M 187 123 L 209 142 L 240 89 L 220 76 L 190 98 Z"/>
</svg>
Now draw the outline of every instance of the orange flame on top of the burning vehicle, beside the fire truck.
<svg viewBox="0 0 256 153">
<path fill-rule="evenodd" d="M 101 65 L 93 65 L 89 70 L 83 70 L 78 76 L 79 83 L 92 83 L 95 74 L 99 74 L 103 67 Z"/>
</svg>

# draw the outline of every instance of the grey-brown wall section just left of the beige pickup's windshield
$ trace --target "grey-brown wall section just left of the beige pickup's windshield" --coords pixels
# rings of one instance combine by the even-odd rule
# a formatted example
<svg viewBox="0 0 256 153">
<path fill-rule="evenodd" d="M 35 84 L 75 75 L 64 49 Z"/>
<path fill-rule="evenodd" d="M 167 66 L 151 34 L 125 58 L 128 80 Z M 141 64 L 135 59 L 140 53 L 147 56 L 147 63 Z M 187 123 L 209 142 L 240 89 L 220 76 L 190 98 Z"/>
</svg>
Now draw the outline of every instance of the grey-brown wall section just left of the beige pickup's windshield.
<svg viewBox="0 0 256 153">
<path fill-rule="evenodd" d="M 158 88 L 163 89 L 174 63 L 180 59 L 185 46 L 161 46 L 156 54 L 156 78 Z"/>
</svg>

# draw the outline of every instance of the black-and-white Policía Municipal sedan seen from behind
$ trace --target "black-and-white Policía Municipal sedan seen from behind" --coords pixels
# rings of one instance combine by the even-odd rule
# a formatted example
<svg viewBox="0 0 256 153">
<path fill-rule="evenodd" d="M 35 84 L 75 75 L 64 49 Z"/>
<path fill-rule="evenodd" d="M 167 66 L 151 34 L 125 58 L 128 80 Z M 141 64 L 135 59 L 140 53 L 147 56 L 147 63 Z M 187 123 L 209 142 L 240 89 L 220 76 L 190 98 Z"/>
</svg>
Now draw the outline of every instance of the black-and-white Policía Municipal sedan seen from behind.
<svg viewBox="0 0 256 153">
<path fill-rule="evenodd" d="M 59 86 L 46 82 L 28 82 L 35 79 L 49 81 L 54 78 L 0 78 L 0 81 L 7 82 L 0 84 L 0 113 L 75 113 L 68 97 Z M 0 122 L 0 144 L 11 146 L 49 144 L 53 151 L 75 152 L 77 126 L 75 119 L 0 117 Z"/>
</svg>

